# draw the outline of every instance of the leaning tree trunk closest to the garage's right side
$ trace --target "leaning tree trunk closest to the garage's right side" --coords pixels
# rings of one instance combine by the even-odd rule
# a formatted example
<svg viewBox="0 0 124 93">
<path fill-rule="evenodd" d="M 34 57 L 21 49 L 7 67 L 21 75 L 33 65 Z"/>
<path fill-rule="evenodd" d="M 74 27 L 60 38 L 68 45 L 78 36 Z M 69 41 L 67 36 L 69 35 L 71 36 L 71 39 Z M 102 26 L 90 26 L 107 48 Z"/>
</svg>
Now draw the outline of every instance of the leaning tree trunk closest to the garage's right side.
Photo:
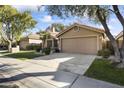
<svg viewBox="0 0 124 93">
<path fill-rule="evenodd" d="M 117 44 L 115 38 L 113 37 L 113 35 L 110 33 L 110 29 L 107 25 L 106 18 L 102 17 L 102 13 L 100 11 L 101 10 L 99 10 L 99 6 L 98 6 L 98 11 L 97 11 L 96 14 L 97 14 L 97 17 L 98 17 L 99 21 L 101 22 L 102 26 L 105 29 L 105 34 L 107 35 L 107 37 L 109 38 L 109 40 L 110 40 L 110 42 L 113 46 L 114 54 L 115 54 L 114 61 L 115 62 L 121 62 L 121 55 L 120 55 L 120 52 L 119 52 L 118 44 Z"/>
</svg>

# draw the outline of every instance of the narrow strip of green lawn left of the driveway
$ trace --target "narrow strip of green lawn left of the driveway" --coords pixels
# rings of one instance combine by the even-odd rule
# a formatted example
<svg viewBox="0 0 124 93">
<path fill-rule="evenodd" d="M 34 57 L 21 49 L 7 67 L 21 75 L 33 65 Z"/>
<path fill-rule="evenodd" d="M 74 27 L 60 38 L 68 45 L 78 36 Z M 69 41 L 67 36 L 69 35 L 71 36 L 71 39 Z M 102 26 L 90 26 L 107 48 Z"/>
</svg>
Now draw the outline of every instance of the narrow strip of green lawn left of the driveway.
<svg viewBox="0 0 124 93">
<path fill-rule="evenodd" d="M 8 52 L 1 52 L 2 56 L 17 58 L 21 60 L 32 59 L 35 57 L 42 56 L 40 53 L 36 53 L 35 51 L 20 51 L 18 53 L 8 53 Z"/>
</svg>

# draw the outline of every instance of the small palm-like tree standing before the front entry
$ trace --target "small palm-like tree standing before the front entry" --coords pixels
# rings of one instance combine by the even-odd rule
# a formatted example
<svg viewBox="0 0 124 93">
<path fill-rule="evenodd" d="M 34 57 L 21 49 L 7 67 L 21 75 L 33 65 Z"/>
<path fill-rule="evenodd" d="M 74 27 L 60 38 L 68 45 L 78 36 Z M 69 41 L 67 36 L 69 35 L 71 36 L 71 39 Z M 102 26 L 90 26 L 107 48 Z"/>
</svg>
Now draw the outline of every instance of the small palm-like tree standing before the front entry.
<svg viewBox="0 0 124 93">
<path fill-rule="evenodd" d="M 40 35 L 40 39 L 42 40 L 42 48 L 45 48 L 45 42 L 46 42 L 46 39 L 49 39 L 50 38 L 50 33 L 47 32 L 47 31 L 39 31 L 37 34 Z"/>
</svg>

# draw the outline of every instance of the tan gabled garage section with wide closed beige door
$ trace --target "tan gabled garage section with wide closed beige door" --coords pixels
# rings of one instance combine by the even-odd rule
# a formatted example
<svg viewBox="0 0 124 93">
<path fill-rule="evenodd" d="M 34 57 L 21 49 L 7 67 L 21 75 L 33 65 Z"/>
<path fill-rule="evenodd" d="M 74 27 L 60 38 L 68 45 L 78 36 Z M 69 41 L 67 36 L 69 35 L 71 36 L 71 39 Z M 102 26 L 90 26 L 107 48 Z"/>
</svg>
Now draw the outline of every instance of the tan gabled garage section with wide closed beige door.
<svg viewBox="0 0 124 93">
<path fill-rule="evenodd" d="M 57 35 L 61 52 L 83 54 L 97 54 L 105 43 L 104 36 L 104 30 L 78 23 Z"/>
</svg>

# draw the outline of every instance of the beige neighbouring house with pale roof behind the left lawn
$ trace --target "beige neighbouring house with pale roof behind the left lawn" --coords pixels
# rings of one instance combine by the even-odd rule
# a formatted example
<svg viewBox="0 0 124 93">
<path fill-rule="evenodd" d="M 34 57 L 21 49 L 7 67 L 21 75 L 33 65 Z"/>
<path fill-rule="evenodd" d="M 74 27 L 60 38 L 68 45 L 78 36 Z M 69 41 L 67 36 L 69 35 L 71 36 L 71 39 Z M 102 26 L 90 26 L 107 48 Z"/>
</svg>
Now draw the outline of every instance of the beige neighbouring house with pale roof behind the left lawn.
<svg viewBox="0 0 124 93">
<path fill-rule="evenodd" d="M 28 45 L 37 45 L 41 44 L 42 40 L 40 39 L 40 36 L 38 34 L 30 34 L 27 37 L 24 37 L 20 40 L 20 48 L 26 49 Z"/>
</svg>

